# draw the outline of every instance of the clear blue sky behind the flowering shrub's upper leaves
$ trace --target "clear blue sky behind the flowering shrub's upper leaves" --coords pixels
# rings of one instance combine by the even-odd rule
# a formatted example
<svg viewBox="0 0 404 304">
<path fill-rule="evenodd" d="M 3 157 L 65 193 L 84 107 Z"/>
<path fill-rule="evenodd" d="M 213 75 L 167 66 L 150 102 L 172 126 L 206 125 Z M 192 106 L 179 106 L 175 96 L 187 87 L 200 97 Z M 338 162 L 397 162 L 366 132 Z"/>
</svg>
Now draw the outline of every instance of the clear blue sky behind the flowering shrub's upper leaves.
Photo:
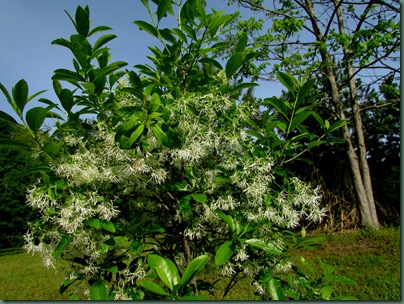
<svg viewBox="0 0 404 304">
<path fill-rule="evenodd" d="M 222 0 L 208 0 L 216 9 L 226 9 Z M 90 7 L 92 26 L 107 25 L 118 36 L 109 43 L 112 60 L 135 64 L 148 63 L 148 46 L 157 43 L 133 24 L 134 20 L 149 21 L 140 0 L 0 0 L 0 82 L 11 91 L 25 79 L 29 92 L 49 90 L 40 97 L 55 102 L 51 77 L 58 68 L 71 68 L 72 57 L 66 48 L 51 45 L 56 38 L 68 38 L 74 27 L 64 12 L 74 16 L 78 5 Z M 255 90 L 260 97 L 279 95 L 280 85 L 271 83 L 271 91 L 261 86 Z M 31 105 L 32 106 L 32 105 Z M 27 106 L 29 108 L 29 106 Z M 11 114 L 11 107 L 0 95 L 0 109 Z M 14 116 L 14 115 L 13 115 Z"/>
</svg>

